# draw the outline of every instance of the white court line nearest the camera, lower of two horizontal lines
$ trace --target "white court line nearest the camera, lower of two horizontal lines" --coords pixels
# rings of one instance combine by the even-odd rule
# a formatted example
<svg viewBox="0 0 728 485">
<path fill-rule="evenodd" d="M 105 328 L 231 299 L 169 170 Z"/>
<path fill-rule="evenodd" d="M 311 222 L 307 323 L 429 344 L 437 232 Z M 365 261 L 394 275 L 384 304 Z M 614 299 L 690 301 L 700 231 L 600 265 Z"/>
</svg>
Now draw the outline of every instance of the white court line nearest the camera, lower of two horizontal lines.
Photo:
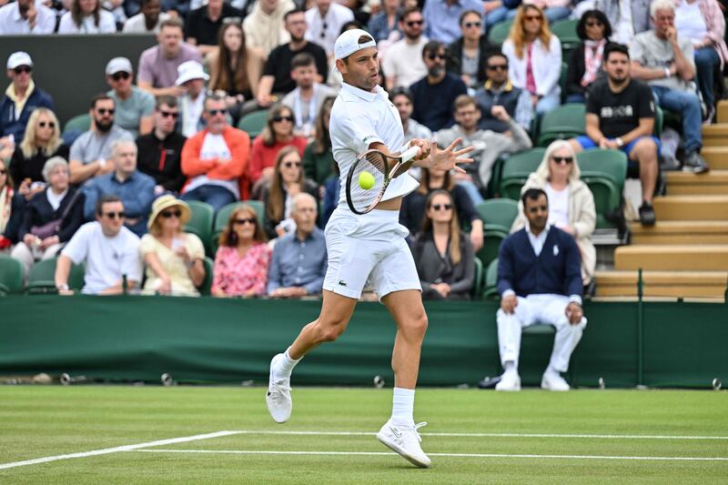
<svg viewBox="0 0 728 485">
<path fill-rule="evenodd" d="M 146 453 L 207 453 L 228 455 L 326 455 L 326 456 L 391 456 L 385 451 L 278 451 L 278 450 L 130 450 Z M 500 453 L 428 453 L 430 457 L 455 458 L 541 458 L 557 460 L 661 460 L 661 461 L 728 461 L 723 457 L 614 457 L 609 455 L 521 455 Z"/>
</svg>

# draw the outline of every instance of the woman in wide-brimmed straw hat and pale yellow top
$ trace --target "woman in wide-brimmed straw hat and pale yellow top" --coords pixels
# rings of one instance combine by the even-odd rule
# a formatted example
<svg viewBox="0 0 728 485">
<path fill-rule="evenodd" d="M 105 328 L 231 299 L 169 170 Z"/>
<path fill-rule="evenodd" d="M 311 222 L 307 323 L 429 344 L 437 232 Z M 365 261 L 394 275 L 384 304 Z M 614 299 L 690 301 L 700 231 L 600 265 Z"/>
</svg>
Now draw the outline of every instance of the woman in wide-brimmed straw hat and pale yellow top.
<svg viewBox="0 0 728 485">
<path fill-rule="evenodd" d="M 205 248 L 194 234 L 184 232 L 189 207 L 174 196 L 157 198 L 149 216 L 149 232 L 139 250 L 147 265 L 147 294 L 197 297 L 205 280 Z"/>
</svg>

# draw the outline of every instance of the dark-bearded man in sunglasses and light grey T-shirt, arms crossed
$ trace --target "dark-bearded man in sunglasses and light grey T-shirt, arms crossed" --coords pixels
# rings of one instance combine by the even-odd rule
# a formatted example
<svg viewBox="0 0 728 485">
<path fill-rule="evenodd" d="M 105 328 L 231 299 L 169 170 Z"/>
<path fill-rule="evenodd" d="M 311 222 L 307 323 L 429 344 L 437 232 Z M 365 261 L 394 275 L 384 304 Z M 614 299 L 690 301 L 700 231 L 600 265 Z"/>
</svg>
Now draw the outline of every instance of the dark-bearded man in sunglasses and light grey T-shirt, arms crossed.
<svg viewBox="0 0 728 485">
<path fill-rule="evenodd" d="M 89 178 L 113 172 L 112 145 L 116 140 L 134 140 L 131 133 L 114 125 L 115 112 L 116 105 L 111 97 L 94 97 L 89 110 L 91 129 L 76 138 L 68 156 L 72 184 L 83 184 Z"/>
</svg>

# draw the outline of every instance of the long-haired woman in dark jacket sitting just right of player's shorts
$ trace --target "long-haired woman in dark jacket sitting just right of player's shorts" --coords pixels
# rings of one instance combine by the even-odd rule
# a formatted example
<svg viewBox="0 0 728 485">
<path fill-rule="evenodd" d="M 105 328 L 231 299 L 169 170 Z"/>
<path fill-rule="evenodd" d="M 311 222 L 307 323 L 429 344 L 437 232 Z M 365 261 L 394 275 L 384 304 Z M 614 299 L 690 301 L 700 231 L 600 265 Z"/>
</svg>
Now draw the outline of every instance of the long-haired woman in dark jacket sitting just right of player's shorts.
<svg viewBox="0 0 728 485">
<path fill-rule="evenodd" d="M 454 201 L 447 190 L 427 197 L 422 232 L 412 244 L 412 256 L 422 283 L 422 298 L 470 298 L 475 254 L 470 238 L 460 230 Z"/>
</svg>

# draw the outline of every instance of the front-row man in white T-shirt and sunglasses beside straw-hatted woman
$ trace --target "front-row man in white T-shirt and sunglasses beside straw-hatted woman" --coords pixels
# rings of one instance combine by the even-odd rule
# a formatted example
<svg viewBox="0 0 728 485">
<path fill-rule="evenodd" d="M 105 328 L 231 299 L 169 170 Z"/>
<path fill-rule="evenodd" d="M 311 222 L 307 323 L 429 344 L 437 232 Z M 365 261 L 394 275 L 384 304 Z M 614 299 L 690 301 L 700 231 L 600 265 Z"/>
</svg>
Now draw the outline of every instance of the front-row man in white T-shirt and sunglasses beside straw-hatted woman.
<svg viewBox="0 0 728 485">
<path fill-rule="evenodd" d="M 56 263 L 56 288 L 60 295 L 72 295 L 68 288 L 71 264 L 85 263 L 86 295 L 118 295 L 135 288 L 142 279 L 139 237 L 124 227 L 126 208 L 119 197 L 104 196 L 96 201 L 96 220 L 81 226 L 63 248 Z"/>
</svg>

